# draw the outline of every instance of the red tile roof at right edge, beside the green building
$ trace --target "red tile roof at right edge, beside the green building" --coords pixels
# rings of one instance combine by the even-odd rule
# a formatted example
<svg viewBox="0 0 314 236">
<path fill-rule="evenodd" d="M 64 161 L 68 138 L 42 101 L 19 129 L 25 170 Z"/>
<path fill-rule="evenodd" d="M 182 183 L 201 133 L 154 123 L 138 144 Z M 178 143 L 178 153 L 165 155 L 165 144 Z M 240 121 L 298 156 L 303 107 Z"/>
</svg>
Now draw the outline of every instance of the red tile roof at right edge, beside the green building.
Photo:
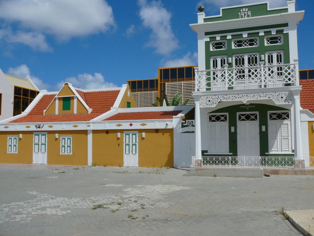
<svg viewBox="0 0 314 236">
<path fill-rule="evenodd" d="M 314 79 L 302 79 L 300 85 L 302 85 L 300 92 L 301 107 L 314 112 Z"/>
</svg>

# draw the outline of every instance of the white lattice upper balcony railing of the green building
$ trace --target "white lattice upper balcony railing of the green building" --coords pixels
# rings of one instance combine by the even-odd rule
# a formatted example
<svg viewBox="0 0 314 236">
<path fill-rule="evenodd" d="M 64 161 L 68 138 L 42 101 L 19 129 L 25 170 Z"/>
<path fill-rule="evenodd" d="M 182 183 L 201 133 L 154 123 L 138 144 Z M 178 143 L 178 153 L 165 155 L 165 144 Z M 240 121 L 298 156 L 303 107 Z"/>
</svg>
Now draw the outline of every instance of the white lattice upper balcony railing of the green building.
<svg viewBox="0 0 314 236">
<path fill-rule="evenodd" d="M 198 70 L 195 91 L 273 88 L 299 85 L 297 64 Z"/>
</svg>

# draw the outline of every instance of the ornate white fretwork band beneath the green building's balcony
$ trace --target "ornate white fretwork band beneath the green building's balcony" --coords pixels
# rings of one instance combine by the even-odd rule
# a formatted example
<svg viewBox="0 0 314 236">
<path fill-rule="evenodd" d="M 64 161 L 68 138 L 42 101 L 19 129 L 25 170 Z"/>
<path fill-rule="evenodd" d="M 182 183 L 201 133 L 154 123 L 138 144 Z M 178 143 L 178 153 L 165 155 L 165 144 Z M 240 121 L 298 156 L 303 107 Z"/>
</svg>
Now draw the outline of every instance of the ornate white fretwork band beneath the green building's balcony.
<svg viewBox="0 0 314 236">
<path fill-rule="evenodd" d="M 276 104 L 291 104 L 291 92 L 269 92 L 269 93 L 243 93 L 226 95 L 201 96 L 199 99 L 200 107 L 215 107 L 218 102 L 243 101 L 272 99 Z"/>
</svg>

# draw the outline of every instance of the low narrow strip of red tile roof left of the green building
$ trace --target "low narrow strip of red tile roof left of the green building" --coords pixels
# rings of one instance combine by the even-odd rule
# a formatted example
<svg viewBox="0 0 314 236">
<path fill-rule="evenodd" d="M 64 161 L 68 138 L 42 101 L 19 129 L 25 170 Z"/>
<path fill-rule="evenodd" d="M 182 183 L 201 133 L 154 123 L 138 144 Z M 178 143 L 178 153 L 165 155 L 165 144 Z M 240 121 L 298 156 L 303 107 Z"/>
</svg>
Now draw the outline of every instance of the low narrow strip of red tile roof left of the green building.
<svg viewBox="0 0 314 236">
<path fill-rule="evenodd" d="M 126 112 L 118 113 L 104 120 L 157 120 L 172 119 L 181 111 L 150 111 L 150 112 Z"/>
</svg>

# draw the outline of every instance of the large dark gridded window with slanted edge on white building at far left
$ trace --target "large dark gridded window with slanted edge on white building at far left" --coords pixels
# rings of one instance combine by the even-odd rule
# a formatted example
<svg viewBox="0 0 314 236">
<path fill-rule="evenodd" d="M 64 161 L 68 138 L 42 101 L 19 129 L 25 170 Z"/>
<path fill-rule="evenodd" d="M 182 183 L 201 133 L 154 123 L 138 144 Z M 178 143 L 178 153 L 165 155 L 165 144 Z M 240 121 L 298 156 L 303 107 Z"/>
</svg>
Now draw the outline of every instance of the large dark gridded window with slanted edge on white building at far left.
<svg viewBox="0 0 314 236">
<path fill-rule="evenodd" d="M 14 86 L 13 116 L 21 114 L 37 94 L 38 91 Z"/>
</svg>

